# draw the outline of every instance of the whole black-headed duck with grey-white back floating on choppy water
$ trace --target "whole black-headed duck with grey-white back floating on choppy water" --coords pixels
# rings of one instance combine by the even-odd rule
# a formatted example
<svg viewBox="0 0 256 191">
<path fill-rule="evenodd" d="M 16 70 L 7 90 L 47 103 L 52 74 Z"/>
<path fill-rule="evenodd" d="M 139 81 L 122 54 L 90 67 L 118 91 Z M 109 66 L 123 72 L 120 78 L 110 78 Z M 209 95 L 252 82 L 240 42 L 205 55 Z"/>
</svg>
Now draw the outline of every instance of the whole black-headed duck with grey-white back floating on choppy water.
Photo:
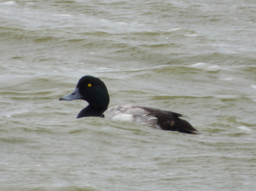
<svg viewBox="0 0 256 191">
<path fill-rule="evenodd" d="M 179 113 L 134 104 L 118 104 L 108 108 L 109 93 L 107 87 L 100 78 L 94 76 L 83 76 L 79 79 L 73 92 L 59 98 L 59 100 L 66 101 L 75 99 L 82 99 L 89 103 L 78 113 L 77 118 L 104 117 L 111 120 L 126 120 L 146 124 L 166 131 L 199 134 L 199 131 L 193 128 L 187 120 L 179 118 L 186 117 Z"/>
</svg>

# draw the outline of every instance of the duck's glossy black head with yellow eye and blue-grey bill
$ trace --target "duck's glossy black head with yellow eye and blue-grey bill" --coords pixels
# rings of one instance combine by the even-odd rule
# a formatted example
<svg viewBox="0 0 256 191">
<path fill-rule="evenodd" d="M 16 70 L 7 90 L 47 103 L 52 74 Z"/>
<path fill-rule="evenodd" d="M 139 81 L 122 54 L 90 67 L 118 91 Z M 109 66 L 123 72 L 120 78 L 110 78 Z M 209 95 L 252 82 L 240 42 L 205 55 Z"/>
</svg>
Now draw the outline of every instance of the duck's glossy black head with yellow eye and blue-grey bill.
<svg viewBox="0 0 256 191">
<path fill-rule="evenodd" d="M 79 79 L 77 87 L 71 94 L 60 97 L 60 100 L 71 101 L 83 99 L 91 106 L 107 108 L 109 105 L 109 93 L 103 81 L 93 76 L 83 76 Z"/>
</svg>

